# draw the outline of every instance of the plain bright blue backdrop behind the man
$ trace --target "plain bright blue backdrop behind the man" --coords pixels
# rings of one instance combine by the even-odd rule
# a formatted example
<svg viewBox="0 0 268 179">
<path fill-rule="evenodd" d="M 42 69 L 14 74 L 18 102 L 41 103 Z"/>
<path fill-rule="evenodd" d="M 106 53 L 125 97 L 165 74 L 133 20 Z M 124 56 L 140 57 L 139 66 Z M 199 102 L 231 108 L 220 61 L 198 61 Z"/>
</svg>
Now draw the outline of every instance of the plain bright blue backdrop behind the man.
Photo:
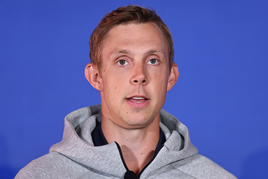
<svg viewBox="0 0 268 179">
<path fill-rule="evenodd" d="M 0 177 L 62 139 L 64 116 L 100 103 L 84 68 L 101 18 L 153 7 L 180 76 L 164 109 L 199 153 L 238 178 L 268 178 L 268 1 L 0 1 Z"/>
</svg>

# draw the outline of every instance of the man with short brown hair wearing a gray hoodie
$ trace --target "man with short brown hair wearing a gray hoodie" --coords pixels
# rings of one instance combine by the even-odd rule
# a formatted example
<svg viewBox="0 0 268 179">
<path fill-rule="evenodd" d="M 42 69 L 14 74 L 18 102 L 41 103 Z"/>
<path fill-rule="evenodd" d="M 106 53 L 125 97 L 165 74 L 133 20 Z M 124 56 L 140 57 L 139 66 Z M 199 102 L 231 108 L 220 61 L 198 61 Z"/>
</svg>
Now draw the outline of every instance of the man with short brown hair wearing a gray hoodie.
<svg viewBox="0 0 268 179">
<path fill-rule="evenodd" d="M 168 27 L 147 8 L 119 7 L 90 37 L 85 77 L 101 106 L 65 118 L 63 139 L 16 178 L 236 178 L 198 155 L 161 108 L 178 79 Z"/>
</svg>

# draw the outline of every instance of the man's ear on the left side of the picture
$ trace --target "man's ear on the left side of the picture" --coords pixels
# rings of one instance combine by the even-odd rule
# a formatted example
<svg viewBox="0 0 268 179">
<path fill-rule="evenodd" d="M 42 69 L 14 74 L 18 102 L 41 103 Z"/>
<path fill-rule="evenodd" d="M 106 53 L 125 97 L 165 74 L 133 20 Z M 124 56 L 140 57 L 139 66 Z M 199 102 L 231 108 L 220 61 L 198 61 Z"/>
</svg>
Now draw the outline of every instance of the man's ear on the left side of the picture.
<svg viewBox="0 0 268 179">
<path fill-rule="evenodd" d="M 91 86 L 99 91 L 103 91 L 102 79 L 99 71 L 92 63 L 85 66 L 85 78 L 90 82 Z"/>
</svg>

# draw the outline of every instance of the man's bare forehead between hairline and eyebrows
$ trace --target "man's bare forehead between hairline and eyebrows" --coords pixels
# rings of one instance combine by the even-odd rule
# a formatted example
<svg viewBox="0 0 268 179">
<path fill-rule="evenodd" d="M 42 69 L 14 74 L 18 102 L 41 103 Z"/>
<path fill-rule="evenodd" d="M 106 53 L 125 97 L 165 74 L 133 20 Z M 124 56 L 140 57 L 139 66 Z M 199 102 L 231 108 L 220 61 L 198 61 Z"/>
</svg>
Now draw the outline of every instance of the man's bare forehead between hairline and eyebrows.
<svg viewBox="0 0 268 179">
<path fill-rule="evenodd" d="M 168 46 L 154 23 L 118 25 L 111 29 L 103 43 L 103 55 L 128 51 L 130 54 L 158 51 L 168 54 Z"/>
</svg>

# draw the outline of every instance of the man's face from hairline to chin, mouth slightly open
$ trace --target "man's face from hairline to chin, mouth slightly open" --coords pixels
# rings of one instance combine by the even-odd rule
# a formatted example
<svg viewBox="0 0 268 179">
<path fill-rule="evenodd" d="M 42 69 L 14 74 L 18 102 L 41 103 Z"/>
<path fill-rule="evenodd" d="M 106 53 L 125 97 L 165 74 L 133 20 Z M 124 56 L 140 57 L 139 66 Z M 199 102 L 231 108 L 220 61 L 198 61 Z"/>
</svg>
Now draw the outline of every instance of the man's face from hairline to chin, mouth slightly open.
<svg viewBox="0 0 268 179">
<path fill-rule="evenodd" d="M 119 25 L 103 44 L 102 114 L 127 129 L 149 125 L 164 105 L 169 80 L 161 31 L 154 23 Z"/>
</svg>

